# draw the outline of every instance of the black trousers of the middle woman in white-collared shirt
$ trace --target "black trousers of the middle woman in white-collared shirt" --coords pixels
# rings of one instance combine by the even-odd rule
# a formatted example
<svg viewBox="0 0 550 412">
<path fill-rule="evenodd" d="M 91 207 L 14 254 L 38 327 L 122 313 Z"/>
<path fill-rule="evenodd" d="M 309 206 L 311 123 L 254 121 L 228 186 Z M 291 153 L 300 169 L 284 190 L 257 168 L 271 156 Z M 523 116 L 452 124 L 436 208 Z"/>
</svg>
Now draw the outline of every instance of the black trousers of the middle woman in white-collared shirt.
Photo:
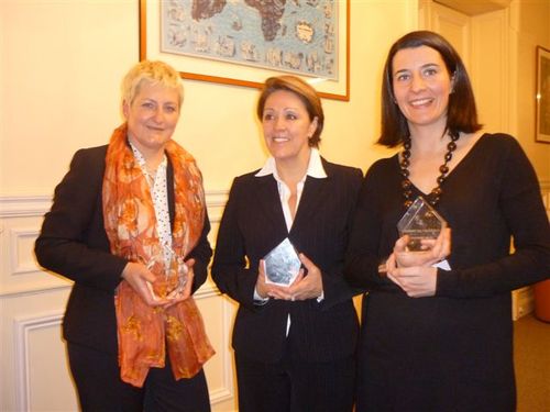
<svg viewBox="0 0 550 412">
<path fill-rule="evenodd" d="M 355 359 L 309 363 L 285 354 L 276 364 L 235 354 L 239 412 L 351 412 Z"/>
</svg>

